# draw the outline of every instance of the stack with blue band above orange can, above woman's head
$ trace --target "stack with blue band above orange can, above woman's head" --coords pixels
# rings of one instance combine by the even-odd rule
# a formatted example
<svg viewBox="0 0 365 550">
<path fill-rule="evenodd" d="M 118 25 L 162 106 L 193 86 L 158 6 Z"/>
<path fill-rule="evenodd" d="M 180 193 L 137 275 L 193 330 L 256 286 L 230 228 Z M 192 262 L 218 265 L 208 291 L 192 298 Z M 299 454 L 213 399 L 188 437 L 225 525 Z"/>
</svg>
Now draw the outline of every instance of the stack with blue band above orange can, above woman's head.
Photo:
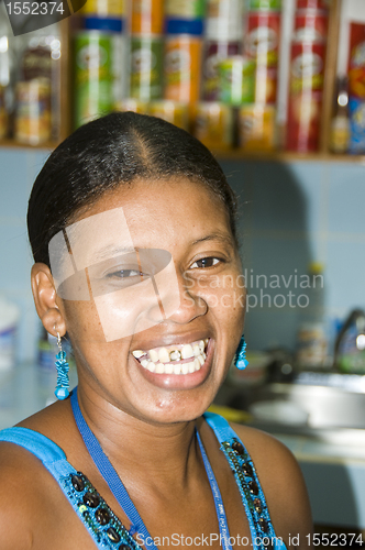
<svg viewBox="0 0 365 550">
<path fill-rule="evenodd" d="M 199 99 L 203 0 L 167 0 L 165 4 L 164 98 L 195 113 Z M 189 107 L 188 107 L 189 106 Z"/>
</svg>

